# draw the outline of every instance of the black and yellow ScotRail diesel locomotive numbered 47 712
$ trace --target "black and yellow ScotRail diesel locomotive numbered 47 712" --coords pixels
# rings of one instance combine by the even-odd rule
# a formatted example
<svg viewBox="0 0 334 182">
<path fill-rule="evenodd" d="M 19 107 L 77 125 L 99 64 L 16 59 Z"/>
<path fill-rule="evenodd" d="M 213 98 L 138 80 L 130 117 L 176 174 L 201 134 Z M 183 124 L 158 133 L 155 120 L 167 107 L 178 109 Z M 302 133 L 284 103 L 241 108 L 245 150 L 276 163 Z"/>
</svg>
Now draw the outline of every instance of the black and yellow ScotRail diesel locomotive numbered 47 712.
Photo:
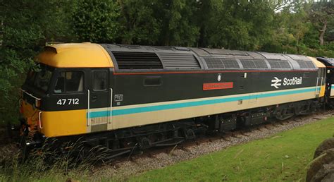
<svg viewBox="0 0 334 182">
<path fill-rule="evenodd" d="M 20 99 L 24 147 L 82 138 L 113 156 L 309 114 L 331 73 L 302 55 L 123 44 L 54 44 L 36 61 Z"/>
</svg>

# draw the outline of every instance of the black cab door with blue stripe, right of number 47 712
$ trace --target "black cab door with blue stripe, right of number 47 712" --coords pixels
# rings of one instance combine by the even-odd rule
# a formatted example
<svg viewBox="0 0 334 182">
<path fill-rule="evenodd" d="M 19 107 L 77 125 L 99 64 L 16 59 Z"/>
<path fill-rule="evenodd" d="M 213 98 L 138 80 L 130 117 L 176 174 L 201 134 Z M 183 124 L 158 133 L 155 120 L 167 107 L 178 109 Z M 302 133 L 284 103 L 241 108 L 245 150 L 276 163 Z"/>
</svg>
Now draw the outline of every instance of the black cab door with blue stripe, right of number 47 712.
<svg viewBox="0 0 334 182">
<path fill-rule="evenodd" d="M 93 69 L 89 87 L 88 123 L 91 132 L 106 131 L 111 123 L 111 95 L 109 70 Z"/>
</svg>

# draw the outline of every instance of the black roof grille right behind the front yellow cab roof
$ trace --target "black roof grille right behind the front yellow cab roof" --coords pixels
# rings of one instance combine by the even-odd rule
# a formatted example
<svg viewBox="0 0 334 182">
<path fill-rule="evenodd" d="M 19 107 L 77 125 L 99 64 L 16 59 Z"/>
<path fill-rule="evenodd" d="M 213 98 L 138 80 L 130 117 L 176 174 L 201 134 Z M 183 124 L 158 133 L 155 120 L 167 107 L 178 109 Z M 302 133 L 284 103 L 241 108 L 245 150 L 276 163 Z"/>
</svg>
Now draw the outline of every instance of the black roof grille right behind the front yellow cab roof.
<svg viewBox="0 0 334 182">
<path fill-rule="evenodd" d="M 153 52 L 112 51 L 118 69 L 162 69 L 162 63 Z"/>
</svg>

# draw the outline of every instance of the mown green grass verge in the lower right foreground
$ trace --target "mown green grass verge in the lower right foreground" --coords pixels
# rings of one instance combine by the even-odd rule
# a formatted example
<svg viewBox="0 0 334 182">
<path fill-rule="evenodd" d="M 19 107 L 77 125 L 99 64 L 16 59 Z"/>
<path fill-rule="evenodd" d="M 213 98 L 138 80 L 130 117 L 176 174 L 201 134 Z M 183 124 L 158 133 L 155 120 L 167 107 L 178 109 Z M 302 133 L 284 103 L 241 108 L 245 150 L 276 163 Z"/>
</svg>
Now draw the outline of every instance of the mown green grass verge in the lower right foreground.
<svg viewBox="0 0 334 182">
<path fill-rule="evenodd" d="M 314 150 L 333 136 L 334 118 L 163 169 L 130 181 L 304 181 Z"/>
</svg>

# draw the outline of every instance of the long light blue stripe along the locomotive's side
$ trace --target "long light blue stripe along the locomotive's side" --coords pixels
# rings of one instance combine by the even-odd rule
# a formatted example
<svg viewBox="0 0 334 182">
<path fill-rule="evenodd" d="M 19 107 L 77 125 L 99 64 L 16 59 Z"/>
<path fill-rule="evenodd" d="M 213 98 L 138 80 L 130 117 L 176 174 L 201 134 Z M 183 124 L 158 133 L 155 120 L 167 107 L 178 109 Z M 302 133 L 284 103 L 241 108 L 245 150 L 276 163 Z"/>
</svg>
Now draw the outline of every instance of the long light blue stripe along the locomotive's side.
<svg viewBox="0 0 334 182">
<path fill-rule="evenodd" d="M 318 88 L 320 89 L 320 88 Z M 112 116 L 119 116 L 125 114 L 136 114 L 142 112 L 149 112 L 149 111 L 161 111 L 166 109 L 178 109 L 184 107 L 197 107 L 209 104 L 220 104 L 224 102 L 235 102 L 240 99 L 248 100 L 248 99 L 256 99 L 256 98 L 266 98 L 266 97 L 276 97 L 281 95 L 292 95 L 304 92 L 315 92 L 316 88 L 308 88 L 304 90 L 288 90 L 283 92 L 274 92 L 274 93 L 265 93 L 265 94 L 257 94 L 257 95 L 250 95 L 250 96 L 240 96 L 240 97 L 229 97 L 229 98 L 222 98 L 222 99 L 207 99 L 201 101 L 192 101 L 192 102 L 185 102 L 185 103 L 175 103 L 175 104 L 161 104 L 158 106 L 148 106 L 148 107 L 136 107 L 130 109 L 117 109 L 112 111 Z M 110 116 L 110 111 L 92 111 L 90 112 L 90 118 L 97 118 L 97 117 L 106 117 Z M 88 117 L 88 114 L 87 114 Z"/>
</svg>

